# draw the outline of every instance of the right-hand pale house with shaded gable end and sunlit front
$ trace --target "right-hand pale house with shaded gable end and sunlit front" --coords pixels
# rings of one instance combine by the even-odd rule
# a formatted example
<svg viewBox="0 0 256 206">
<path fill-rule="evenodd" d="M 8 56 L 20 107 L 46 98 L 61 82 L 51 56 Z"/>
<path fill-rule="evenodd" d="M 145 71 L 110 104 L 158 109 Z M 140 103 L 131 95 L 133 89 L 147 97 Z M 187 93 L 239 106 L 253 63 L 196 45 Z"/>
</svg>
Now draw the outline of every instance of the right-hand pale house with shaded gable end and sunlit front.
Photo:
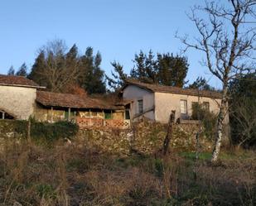
<svg viewBox="0 0 256 206">
<path fill-rule="evenodd" d="M 132 120 L 147 117 L 152 121 L 167 123 L 171 110 L 175 110 L 176 120 L 187 122 L 184 120 L 191 119 L 194 103 L 202 104 L 212 113 L 220 112 L 221 93 L 213 91 L 181 89 L 128 80 L 121 93 L 123 99 L 133 101 L 130 108 Z M 226 122 L 229 122 L 228 116 Z"/>
</svg>

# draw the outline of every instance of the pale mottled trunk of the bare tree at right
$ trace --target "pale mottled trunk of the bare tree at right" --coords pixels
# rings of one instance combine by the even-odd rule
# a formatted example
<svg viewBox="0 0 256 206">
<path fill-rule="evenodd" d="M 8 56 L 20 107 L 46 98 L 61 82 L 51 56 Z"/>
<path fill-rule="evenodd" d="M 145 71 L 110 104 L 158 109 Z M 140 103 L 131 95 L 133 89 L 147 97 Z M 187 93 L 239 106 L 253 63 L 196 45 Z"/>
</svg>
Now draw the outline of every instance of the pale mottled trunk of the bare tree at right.
<svg viewBox="0 0 256 206">
<path fill-rule="evenodd" d="M 220 104 L 220 113 L 218 116 L 217 120 L 217 131 L 215 134 L 215 147 L 212 152 L 211 156 L 211 162 L 216 162 L 218 160 L 219 154 L 220 154 L 220 146 L 221 146 L 221 141 L 223 137 L 223 128 L 224 128 L 224 123 L 225 123 L 225 115 L 227 112 L 227 98 L 228 96 L 228 87 L 224 85 L 223 89 L 223 95 L 221 99 L 221 104 Z"/>
</svg>

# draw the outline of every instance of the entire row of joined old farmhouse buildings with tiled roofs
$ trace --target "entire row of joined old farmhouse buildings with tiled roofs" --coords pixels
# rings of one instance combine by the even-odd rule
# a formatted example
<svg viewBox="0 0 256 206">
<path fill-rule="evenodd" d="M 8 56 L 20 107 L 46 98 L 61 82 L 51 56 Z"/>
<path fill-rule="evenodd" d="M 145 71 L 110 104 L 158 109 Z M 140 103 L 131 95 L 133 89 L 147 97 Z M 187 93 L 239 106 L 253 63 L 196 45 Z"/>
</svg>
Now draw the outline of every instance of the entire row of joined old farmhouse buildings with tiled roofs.
<svg viewBox="0 0 256 206">
<path fill-rule="evenodd" d="M 202 103 L 212 113 L 219 113 L 221 93 L 181 89 L 128 80 L 121 89 L 118 103 L 104 98 L 70 93 L 51 93 L 22 76 L 0 75 L 0 119 L 28 119 L 41 122 L 62 120 L 77 122 L 80 127 L 130 126 L 147 117 L 167 123 L 171 110 L 176 120 L 191 119 L 193 103 Z M 226 117 L 229 122 L 229 117 Z"/>
</svg>

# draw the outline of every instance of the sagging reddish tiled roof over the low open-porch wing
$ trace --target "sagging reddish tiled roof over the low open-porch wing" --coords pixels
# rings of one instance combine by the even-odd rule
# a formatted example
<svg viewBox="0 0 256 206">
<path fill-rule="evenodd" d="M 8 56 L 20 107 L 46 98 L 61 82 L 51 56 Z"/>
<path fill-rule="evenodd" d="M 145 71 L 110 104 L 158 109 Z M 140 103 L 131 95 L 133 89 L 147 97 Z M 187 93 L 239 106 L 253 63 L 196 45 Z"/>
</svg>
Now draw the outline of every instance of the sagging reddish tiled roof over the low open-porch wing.
<svg viewBox="0 0 256 206">
<path fill-rule="evenodd" d="M 112 103 L 107 103 L 87 95 L 71 93 L 51 93 L 45 91 L 36 92 L 36 102 L 46 107 L 61 108 L 99 108 L 99 109 L 122 109 Z"/>
</svg>

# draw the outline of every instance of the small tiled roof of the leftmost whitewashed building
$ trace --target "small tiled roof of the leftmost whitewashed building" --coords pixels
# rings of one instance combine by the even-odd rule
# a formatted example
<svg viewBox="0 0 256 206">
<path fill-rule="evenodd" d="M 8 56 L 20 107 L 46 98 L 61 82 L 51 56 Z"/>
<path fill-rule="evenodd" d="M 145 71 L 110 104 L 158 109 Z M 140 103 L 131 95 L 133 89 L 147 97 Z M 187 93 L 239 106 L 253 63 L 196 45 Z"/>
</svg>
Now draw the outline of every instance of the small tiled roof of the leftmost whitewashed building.
<svg viewBox="0 0 256 206">
<path fill-rule="evenodd" d="M 34 81 L 27 79 L 26 77 L 2 74 L 0 74 L 0 85 L 41 88 Z"/>
</svg>

